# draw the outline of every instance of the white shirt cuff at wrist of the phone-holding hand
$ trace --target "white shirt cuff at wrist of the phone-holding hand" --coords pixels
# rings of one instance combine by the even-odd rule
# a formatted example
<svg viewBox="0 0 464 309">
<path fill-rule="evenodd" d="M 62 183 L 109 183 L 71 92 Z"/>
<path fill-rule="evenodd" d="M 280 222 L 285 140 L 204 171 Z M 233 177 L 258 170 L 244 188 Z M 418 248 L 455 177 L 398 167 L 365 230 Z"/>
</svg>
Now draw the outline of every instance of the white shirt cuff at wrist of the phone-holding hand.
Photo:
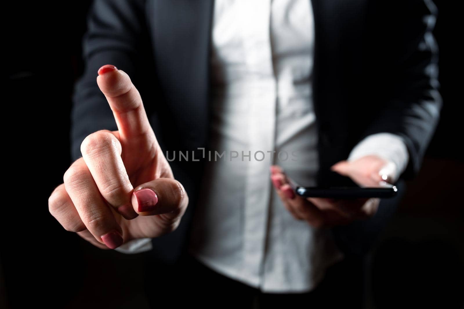
<svg viewBox="0 0 464 309">
<path fill-rule="evenodd" d="M 401 136 L 391 133 L 369 135 L 359 142 L 348 156 L 348 161 L 354 161 L 366 155 L 377 155 L 396 166 L 396 177 L 406 169 L 409 153 Z"/>
</svg>

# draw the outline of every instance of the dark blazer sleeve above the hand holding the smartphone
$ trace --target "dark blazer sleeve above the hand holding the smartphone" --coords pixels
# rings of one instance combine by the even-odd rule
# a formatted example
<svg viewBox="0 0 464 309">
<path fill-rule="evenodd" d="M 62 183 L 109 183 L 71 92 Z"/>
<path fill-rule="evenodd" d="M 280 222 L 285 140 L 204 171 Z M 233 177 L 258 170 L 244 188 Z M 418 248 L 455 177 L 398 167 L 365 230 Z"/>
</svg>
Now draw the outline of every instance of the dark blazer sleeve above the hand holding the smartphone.
<svg viewBox="0 0 464 309">
<path fill-rule="evenodd" d="M 401 1 L 395 6 L 389 16 L 392 26 L 387 28 L 387 38 L 392 39 L 386 40 L 390 45 L 385 56 L 390 67 L 387 105 L 360 139 L 382 132 L 402 137 L 409 153 L 401 175 L 405 179 L 419 171 L 442 106 L 438 45 L 432 33 L 437 11 L 431 0 Z"/>
</svg>

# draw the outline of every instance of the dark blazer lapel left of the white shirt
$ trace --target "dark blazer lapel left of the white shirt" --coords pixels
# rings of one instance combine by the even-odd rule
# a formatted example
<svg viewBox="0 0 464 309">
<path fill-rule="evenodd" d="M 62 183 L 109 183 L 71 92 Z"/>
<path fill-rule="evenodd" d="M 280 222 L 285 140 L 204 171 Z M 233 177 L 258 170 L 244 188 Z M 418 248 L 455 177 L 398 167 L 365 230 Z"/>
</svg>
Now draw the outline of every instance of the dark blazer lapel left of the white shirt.
<svg viewBox="0 0 464 309">
<path fill-rule="evenodd" d="M 176 114 L 182 143 L 206 142 L 213 0 L 153 0 L 152 44 L 163 95 Z"/>
</svg>

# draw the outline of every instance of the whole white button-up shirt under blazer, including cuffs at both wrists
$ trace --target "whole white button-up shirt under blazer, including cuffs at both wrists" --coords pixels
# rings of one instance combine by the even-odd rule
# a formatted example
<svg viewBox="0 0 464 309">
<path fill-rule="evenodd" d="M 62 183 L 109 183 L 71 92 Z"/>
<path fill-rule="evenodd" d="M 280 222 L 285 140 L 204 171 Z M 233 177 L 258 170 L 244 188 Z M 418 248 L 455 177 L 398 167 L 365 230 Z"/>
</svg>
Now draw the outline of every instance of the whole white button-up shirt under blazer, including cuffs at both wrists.
<svg viewBox="0 0 464 309">
<path fill-rule="evenodd" d="M 311 290 L 342 253 L 328 229 L 290 215 L 269 171 L 277 163 L 315 184 L 311 1 L 216 0 L 212 31 L 209 146 L 226 156 L 215 161 L 213 153 L 206 164 L 189 251 L 215 271 L 265 292 Z M 393 161 L 399 173 L 408 161 L 401 138 L 387 133 L 369 136 L 348 160 L 366 154 Z M 115 250 L 146 251 L 149 240 Z"/>
</svg>

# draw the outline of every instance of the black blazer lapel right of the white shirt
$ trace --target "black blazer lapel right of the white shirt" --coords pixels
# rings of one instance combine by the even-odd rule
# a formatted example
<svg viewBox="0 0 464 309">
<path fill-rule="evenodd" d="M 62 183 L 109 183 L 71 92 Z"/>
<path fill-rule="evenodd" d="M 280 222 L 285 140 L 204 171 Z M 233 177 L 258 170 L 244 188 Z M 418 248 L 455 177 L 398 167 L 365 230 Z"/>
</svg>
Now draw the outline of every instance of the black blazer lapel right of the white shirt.
<svg viewBox="0 0 464 309">
<path fill-rule="evenodd" d="M 347 80 L 359 81 L 362 63 L 363 29 L 367 0 L 311 0 L 315 23 L 313 71 L 314 107 L 319 129 L 329 130 L 345 113 L 334 109 L 349 108 L 341 104 L 357 88 Z"/>
</svg>

